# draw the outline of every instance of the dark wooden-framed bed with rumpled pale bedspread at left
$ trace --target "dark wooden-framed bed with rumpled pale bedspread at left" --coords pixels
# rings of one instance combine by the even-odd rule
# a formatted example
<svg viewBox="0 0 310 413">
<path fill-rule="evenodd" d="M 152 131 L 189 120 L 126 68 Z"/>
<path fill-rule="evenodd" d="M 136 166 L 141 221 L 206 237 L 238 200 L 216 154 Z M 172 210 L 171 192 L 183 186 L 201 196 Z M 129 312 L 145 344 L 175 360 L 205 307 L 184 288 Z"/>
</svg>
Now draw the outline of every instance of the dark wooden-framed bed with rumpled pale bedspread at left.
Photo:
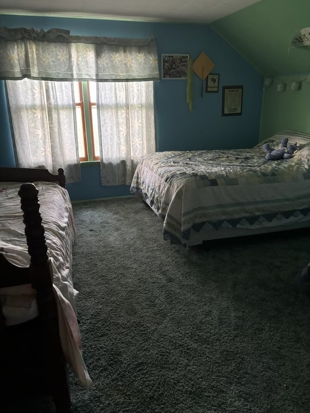
<svg viewBox="0 0 310 413">
<path fill-rule="evenodd" d="M 36 177 L 43 179 L 22 184 Z M 84 387 L 92 381 L 81 352 L 78 291 L 71 275 L 76 232 L 64 175 L 0 168 L 0 181 L 0 350 L 2 367 L 6 364 L 6 374 L 15 383 L 9 384 L 7 394 L 17 388 L 16 397 L 29 396 L 30 389 L 40 388 L 44 373 L 48 383 L 38 396 L 44 390 L 53 397 L 56 412 L 69 412 L 66 364 Z M 35 347 L 37 366 L 30 353 Z M 28 380 L 23 377 L 18 386 L 16 369 L 24 363 L 21 377 Z M 36 369 L 45 371 L 36 374 Z"/>
</svg>

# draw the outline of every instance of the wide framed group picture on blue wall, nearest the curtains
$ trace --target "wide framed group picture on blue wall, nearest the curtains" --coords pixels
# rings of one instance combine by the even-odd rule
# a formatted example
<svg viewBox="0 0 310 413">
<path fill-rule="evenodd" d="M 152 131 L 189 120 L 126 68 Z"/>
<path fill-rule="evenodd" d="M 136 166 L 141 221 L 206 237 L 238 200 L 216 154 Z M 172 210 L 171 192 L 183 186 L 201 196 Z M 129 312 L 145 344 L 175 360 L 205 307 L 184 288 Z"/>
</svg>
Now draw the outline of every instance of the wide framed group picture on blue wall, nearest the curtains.
<svg viewBox="0 0 310 413">
<path fill-rule="evenodd" d="M 162 54 L 161 78 L 186 79 L 188 57 L 188 54 Z"/>
</svg>

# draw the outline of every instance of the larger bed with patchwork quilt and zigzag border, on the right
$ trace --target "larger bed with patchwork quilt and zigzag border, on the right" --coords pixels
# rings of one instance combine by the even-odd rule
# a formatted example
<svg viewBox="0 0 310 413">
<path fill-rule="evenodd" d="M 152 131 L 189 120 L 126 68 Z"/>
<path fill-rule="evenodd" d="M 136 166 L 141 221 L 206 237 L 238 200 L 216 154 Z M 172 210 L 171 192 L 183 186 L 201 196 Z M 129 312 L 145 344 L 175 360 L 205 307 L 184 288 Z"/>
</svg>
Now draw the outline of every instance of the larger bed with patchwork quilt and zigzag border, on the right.
<svg viewBox="0 0 310 413">
<path fill-rule="evenodd" d="M 265 159 L 263 144 L 297 142 L 290 159 Z M 163 219 L 163 236 L 205 240 L 310 227 L 310 135 L 282 131 L 251 149 L 156 152 L 136 168 L 130 191 Z"/>
</svg>

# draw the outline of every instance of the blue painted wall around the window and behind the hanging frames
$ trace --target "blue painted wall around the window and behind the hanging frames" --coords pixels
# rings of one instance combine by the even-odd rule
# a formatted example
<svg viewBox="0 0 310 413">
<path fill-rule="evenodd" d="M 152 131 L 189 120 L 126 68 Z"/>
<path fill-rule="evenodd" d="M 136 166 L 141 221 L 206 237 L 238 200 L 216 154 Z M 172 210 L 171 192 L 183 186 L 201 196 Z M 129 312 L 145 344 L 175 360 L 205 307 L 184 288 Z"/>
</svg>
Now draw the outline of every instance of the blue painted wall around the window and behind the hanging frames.
<svg viewBox="0 0 310 413">
<path fill-rule="evenodd" d="M 194 75 L 193 111 L 186 103 L 186 80 L 155 82 L 157 150 L 249 148 L 258 143 L 263 78 L 207 25 L 131 22 L 96 19 L 0 15 L 0 26 L 40 30 L 68 29 L 73 35 L 146 38 L 154 35 L 161 53 L 189 53 L 195 60 L 204 51 L 220 74 L 218 93 L 203 93 Z M 221 86 L 243 85 L 242 116 L 221 116 Z M 0 86 L 0 165 L 11 166 L 12 138 L 3 85 Z M 129 195 L 128 186 L 101 186 L 98 164 L 82 166 L 82 182 L 69 184 L 71 199 Z"/>
</svg>

